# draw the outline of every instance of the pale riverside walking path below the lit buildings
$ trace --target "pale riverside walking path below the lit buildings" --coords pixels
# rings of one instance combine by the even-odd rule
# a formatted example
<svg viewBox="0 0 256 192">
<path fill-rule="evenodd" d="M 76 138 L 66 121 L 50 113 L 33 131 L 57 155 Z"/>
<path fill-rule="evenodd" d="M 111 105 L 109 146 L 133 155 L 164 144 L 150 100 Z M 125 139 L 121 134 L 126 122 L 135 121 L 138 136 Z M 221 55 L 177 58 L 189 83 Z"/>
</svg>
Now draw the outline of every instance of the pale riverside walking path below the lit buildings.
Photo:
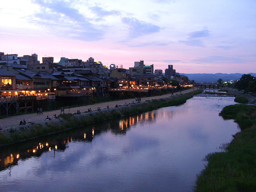
<svg viewBox="0 0 256 192">
<path fill-rule="evenodd" d="M 184 90 L 182 93 L 190 92 L 196 89 L 189 89 L 189 90 Z M 174 93 L 176 94 L 181 94 L 180 92 Z M 153 97 L 146 97 L 146 98 L 141 98 L 141 102 L 144 102 L 148 99 L 159 99 L 159 98 L 166 98 L 171 96 L 171 94 L 165 94 L 161 96 L 153 96 Z M 136 102 L 134 99 L 124 99 L 124 100 L 117 100 L 117 101 L 110 101 L 110 102 L 103 102 L 103 103 L 98 103 L 98 104 L 92 104 L 92 105 L 85 105 L 85 106 L 79 106 L 79 107 L 74 107 L 69 109 L 64 109 L 64 113 L 76 113 L 77 110 L 80 110 L 80 112 L 85 112 L 88 111 L 88 108 L 91 108 L 92 111 L 97 110 L 97 107 L 100 107 L 101 109 L 106 108 L 106 106 L 109 106 L 109 108 L 113 108 L 117 105 L 124 105 L 125 103 L 130 104 L 132 101 Z M 24 115 L 19 115 L 19 116 L 10 116 L 7 118 L 0 119 L 0 127 L 2 130 L 6 130 L 8 128 L 14 128 L 18 127 L 18 124 L 21 120 L 26 120 L 28 125 L 30 123 L 40 123 L 40 122 L 46 122 L 47 120 L 45 119 L 46 116 L 49 116 L 50 118 L 53 117 L 53 115 L 56 114 L 57 116 L 60 114 L 60 110 L 53 110 L 53 111 L 43 111 L 43 114 L 37 115 L 37 113 L 32 113 L 32 114 L 24 114 Z"/>
</svg>

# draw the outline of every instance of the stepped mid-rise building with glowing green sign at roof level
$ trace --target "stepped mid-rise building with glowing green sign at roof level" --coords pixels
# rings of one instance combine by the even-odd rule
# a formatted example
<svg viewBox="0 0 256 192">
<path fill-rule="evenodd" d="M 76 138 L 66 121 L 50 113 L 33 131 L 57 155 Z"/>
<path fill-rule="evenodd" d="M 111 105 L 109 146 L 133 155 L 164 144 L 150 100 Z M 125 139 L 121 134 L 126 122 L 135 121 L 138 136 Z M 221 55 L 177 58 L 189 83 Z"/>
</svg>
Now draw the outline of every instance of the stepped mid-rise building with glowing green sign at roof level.
<svg viewBox="0 0 256 192">
<path fill-rule="evenodd" d="M 134 67 L 129 68 L 130 74 L 154 74 L 154 65 L 145 65 L 144 61 L 135 61 Z"/>
</svg>

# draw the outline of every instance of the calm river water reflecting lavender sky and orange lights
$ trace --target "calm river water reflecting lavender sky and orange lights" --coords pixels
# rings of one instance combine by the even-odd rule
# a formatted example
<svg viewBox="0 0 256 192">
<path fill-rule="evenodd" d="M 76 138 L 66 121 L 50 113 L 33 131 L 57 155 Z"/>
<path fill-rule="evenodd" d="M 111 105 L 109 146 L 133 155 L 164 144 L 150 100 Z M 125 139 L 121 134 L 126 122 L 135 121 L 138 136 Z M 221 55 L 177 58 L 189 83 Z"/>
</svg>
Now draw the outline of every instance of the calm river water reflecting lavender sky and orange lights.
<svg viewBox="0 0 256 192">
<path fill-rule="evenodd" d="M 218 116 L 234 97 L 180 106 L 0 149 L 0 191 L 192 191 L 204 157 L 240 129 Z"/>
</svg>

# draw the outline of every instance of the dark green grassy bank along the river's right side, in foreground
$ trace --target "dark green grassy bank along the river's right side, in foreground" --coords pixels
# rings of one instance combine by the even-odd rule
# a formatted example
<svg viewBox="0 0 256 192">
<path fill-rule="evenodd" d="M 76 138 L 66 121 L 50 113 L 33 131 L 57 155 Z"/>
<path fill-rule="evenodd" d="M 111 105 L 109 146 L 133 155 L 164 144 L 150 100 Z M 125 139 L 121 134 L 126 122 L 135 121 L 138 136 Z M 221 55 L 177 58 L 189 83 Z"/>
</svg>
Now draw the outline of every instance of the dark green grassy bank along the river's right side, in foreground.
<svg viewBox="0 0 256 192">
<path fill-rule="evenodd" d="M 256 191 L 256 106 L 226 106 L 220 115 L 234 119 L 241 128 L 224 152 L 208 154 L 208 165 L 196 181 L 195 192 Z"/>
</svg>

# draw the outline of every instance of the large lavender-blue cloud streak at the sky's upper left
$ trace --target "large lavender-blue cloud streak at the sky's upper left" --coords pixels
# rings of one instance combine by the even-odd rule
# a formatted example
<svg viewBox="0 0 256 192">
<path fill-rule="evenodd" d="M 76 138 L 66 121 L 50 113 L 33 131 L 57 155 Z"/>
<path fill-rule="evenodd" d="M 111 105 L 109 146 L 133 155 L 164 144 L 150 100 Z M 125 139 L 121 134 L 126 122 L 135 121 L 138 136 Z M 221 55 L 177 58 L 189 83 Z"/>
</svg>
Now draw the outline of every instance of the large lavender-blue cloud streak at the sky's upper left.
<svg viewBox="0 0 256 192">
<path fill-rule="evenodd" d="M 45 2 L 33 0 L 41 6 L 40 12 L 28 18 L 30 23 L 45 26 L 58 37 L 83 41 L 95 41 L 103 38 L 104 31 L 95 28 L 83 14 L 64 1 Z M 50 11 L 49 11 L 50 10 Z"/>
</svg>

